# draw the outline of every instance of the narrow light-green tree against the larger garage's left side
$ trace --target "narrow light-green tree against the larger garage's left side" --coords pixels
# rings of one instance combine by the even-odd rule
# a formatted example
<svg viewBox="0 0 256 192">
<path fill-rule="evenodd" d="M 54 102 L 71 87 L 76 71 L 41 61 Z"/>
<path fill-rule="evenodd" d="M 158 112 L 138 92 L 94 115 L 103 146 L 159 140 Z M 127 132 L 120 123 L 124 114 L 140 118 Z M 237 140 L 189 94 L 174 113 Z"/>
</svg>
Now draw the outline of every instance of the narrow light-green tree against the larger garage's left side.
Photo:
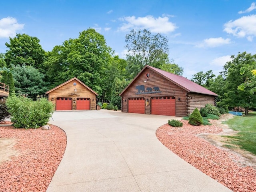
<svg viewBox="0 0 256 192">
<path fill-rule="evenodd" d="M 126 80 L 120 80 L 119 78 L 115 78 L 112 84 L 112 92 L 111 92 L 111 103 L 113 105 L 117 105 L 118 109 L 121 109 L 121 96 L 119 94 L 126 88 L 129 84 Z"/>
</svg>

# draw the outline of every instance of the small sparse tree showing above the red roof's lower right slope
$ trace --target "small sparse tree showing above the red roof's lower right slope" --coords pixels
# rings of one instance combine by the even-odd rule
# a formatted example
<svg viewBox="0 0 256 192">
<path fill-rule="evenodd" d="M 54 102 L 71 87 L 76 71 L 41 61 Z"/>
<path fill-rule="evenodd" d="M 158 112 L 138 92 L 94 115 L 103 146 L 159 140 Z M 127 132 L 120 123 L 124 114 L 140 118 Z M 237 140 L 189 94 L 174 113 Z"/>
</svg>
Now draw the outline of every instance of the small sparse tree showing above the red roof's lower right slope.
<svg viewBox="0 0 256 192">
<path fill-rule="evenodd" d="M 212 73 L 212 70 L 206 71 L 205 73 L 200 71 L 192 75 L 190 80 L 207 88 L 209 86 L 209 81 L 214 77 L 215 75 Z"/>
</svg>

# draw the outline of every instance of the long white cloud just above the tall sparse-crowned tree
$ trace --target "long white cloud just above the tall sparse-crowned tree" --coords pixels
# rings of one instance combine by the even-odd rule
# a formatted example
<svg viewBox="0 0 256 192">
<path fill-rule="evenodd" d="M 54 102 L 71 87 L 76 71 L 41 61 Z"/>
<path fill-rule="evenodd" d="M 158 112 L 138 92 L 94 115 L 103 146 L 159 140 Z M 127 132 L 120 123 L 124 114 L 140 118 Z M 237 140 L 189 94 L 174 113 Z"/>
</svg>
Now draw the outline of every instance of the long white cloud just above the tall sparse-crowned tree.
<svg viewBox="0 0 256 192">
<path fill-rule="evenodd" d="M 129 16 L 123 17 L 119 20 L 124 21 L 119 31 L 129 31 L 131 29 L 149 29 L 151 32 L 169 33 L 173 32 L 176 28 L 176 24 L 169 21 L 167 16 L 154 18 L 153 16 L 138 17 Z"/>
</svg>

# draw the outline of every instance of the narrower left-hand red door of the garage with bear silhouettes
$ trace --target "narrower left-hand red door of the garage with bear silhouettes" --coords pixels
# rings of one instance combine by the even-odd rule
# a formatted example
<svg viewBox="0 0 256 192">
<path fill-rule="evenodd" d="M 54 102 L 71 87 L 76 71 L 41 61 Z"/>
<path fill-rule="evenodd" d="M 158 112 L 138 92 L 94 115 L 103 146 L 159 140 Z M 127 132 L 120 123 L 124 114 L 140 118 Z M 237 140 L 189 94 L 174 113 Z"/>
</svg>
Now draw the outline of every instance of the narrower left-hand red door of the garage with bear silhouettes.
<svg viewBox="0 0 256 192">
<path fill-rule="evenodd" d="M 145 99 L 128 98 L 128 113 L 142 113 L 145 114 Z"/>
</svg>

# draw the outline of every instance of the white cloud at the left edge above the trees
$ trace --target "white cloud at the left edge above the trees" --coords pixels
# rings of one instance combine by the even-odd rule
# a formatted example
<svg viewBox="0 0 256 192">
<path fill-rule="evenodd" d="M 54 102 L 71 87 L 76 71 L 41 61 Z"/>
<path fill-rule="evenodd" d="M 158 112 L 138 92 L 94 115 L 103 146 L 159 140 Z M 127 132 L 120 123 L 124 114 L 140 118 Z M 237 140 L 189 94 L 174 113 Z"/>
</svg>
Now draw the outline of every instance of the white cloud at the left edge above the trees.
<svg viewBox="0 0 256 192">
<path fill-rule="evenodd" d="M 22 30 L 24 24 L 19 24 L 16 18 L 7 17 L 0 19 L 0 38 L 16 36 L 16 31 Z"/>
</svg>

